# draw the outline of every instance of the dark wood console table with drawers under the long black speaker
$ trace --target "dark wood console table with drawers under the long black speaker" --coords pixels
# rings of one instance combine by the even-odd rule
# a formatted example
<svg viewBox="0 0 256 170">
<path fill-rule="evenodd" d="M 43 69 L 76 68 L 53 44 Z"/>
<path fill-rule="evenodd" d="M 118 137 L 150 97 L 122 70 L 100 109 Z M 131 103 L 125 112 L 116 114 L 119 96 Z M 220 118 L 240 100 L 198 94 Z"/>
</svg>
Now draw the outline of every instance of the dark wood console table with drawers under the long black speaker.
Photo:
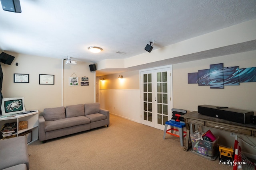
<svg viewBox="0 0 256 170">
<path fill-rule="evenodd" d="M 187 129 L 186 145 L 184 147 L 185 151 L 188 151 L 192 147 L 190 142 L 190 125 L 192 125 L 193 132 L 195 131 L 195 125 L 199 125 L 232 132 L 237 135 L 256 137 L 256 125 L 252 123 L 236 123 L 224 119 L 219 119 L 216 117 L 202 115 L 197 111 L 192 111 L 190 113 L 182 115 L 182 117 L 184 117 Z"/>
</svg>

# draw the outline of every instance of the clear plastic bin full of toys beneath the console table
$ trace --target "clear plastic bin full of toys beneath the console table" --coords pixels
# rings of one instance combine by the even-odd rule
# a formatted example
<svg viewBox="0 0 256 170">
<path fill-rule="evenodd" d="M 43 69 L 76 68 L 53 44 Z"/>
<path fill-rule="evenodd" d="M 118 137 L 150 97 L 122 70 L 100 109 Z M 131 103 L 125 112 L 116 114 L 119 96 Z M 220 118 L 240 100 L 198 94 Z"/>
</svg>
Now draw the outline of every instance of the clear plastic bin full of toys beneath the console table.
<svg viewBox="0 0 256 170">
<path fill-rule="evenodd" d="M 198 131 L 195 131 L 193 134 L 190 135 L 193 150 L 204 156 L 214 156 L 218 151 L 219 137 L 215 135 L 216 139 L 213 142 L 201 139 L 198 140 L 198 137 L 200 137 L 200 132 Z"/>
</svg>

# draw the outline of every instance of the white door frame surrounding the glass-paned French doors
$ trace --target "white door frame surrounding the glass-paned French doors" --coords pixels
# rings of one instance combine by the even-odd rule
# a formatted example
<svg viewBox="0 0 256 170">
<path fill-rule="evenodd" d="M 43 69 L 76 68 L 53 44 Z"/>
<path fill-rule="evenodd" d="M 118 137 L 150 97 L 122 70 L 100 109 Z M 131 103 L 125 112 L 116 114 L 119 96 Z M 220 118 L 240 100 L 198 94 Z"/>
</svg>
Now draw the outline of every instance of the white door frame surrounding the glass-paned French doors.
<svg viewBox="0 0 256 170">
<path fill-rule="evenodd" d="M 141 72 L 146 72 L 146 71 L 154 71 L 154 70 L 158 70 L 158 69 L 163 69 L 163 68 L 170 68 L 170 97 L 171 97 L 171 101 L 170 101 L 170 109 L 172 109 L 173 108 L 173 88 L 172 88 L 172 65 L 167 65 L 167 66 L 160 66 L 160 67 L 154 67 L 154 68 L 147 68 L 147 69 L 143 69 L 143 70 L 140 70 L 140 95 L 142 94 L 141 93 L 141 91 L 143 90 L 142 89 L 142 78 L 143 77 L 141 77 Z M 140 98 L 141 98 L 141 100 L 140 100 L 140 102 L 142 102 L 142 98 L 143 98 L 143 96 L 140 96 Z M 142 102 L 143 103 L 143 102 Z M 142 107 L 143 106 L 143 104 L 140 104 L 140 123 L 141 124 L 145 124 L 145 123 L 142 123 L 142 119 L 143 119 L 143 109 L 144 109 L 144 107 Z M 169 115 L 168 115 L 169 116 Z M 171 119 L 172 117 L 171 117 L 172 115 L 170 115 L 170 117 L 168 117 L 168 120 L 169 119 Z M 149 126 L 151 126 L 150 125 L 151 123 L 149 123 L 148 125 Z M 147 125 L 147 124 L 145 124 L 145 125 Z M 163 129 L 162 129 L 163 130 Z"/>
</svg>

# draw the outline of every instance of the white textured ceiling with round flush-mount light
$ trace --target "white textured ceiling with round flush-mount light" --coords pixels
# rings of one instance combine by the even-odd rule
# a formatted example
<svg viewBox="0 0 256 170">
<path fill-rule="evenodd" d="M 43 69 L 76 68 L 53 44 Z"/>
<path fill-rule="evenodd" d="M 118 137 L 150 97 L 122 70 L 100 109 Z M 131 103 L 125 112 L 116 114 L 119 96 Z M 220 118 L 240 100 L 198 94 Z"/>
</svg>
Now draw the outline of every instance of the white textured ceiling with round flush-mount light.
<svg viewBox="0 0 256 170">
<path fill-rule="evenodd" d="M 149 41 L 155 50 L 256 19 L 255 0 L 20 0 L 20 5 L 22 13 L 0 10 L 1 51 L 92 63 L 147 53 Z M 90 46 L 103 51 L 90 53 Z"/>
</svg>

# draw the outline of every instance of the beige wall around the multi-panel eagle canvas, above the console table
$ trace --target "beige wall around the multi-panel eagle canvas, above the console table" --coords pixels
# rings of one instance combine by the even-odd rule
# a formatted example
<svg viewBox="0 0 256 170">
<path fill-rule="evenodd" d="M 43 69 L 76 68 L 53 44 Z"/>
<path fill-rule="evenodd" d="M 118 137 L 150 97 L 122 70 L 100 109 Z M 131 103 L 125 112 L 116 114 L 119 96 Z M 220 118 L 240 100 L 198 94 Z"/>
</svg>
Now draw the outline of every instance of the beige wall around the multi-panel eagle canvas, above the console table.
<svg viewBox="0 0 256 170">
<path fill-rule="evenodd" d="M 211 59 L 173 65 L 173 105 L 188 111 L 197 110 L 198 105 L 228 106 L 256 113 L 256 82 L 240 83 L 239 86 L 224 86 L 224 89 L 210 89 L 210 86 L 188 84 L 188 73 L 210 68 L 210 64 L 223 63 L 224 67 L 256 66 L 256 51 L 238 53 Z"/>
</svg>

